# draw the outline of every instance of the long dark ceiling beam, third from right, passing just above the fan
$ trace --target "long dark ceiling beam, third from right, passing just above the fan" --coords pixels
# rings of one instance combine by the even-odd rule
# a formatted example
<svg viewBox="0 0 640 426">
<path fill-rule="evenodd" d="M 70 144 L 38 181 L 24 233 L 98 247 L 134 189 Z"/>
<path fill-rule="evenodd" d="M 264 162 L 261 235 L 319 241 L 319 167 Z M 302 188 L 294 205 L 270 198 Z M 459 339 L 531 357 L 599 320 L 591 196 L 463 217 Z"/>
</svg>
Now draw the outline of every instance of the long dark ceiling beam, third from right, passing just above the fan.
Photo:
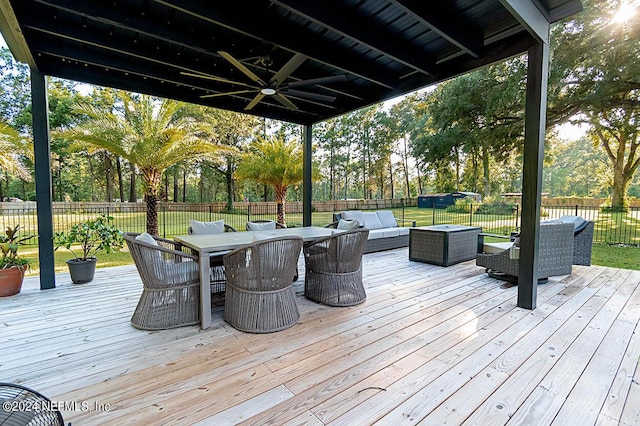
<svg viewBox="0 0 640 426">
<path fill-rule="evenodd" d="M 397 78 L 388 76 L 388 69 L 354 56 L 350 49 L 343 49 L 337 45 L 333 46 L 331 50 L 318 47 L 326 44 L 326 40 L 321 34 L 314 33 L 303 26 L 293 29 L 292 25 L 294 24 L 282 17 L 269 14 L 258 22 L 247 20 L 244 17 L 243 9 L 260 7 L 262 3 L 243 4 L 241 0 L 236 0 L 234 2 L 216 2 L 215 7 L 211 7 L 208 3 L 190 0 L 152 1 L 261 42 L 266 41 L 292 53 L 302 53 L 316 62 L 364 78 L 388 89 L 392 89 L 397 82 Z M 265 10 L 265 14 L 268 14 L 268 11 Z M 288 28 L 289 32 L 282 31 L 284 28 Z M 300 37 L 292 37 L 292 32 L 300 34 Z"/>
</svg>

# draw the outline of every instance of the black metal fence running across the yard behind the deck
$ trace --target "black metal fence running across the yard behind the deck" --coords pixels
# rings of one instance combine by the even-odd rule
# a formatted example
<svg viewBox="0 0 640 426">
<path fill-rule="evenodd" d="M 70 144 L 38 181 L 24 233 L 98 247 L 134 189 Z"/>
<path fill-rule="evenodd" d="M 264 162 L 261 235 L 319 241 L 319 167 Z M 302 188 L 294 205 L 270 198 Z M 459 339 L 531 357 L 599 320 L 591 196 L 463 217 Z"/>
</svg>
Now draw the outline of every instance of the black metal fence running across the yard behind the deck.
<svg viewBox="0 0 640 426">
<path fill-rule="evenodd" d="M 415 220 L 418 226 L 435 224 L 462 224 L 481 226 L 485 232 L 508 235 L 520 229 L 520 206 L 511 211 L 492 212 L 477 205 L 466 206 L 463 211 L 447 209 L 406 208 L 415 206 L 415 200 L 343 200 L 314 202 L 312 224 L 325 226 L 333 221 L 333 213 L 343 210 L 392 210 L 396 217 Z M 107 214 L 123 232 L 143 232 L 146 229 L 146 205 L 144 203 L 54 203 L 54 232 L 68 230 L 74 223 Z M 640 247 L 640 208 L 628 212 L 612 213 L 598 207 L 542 206 L 542 220 L 557 219 L 563 215 L 582 216 L 595 222 L 594 241 L 607 244 L 626 244 Z M 185 234 L 190 220 L 224 220 L 237 230 L 244 230 L 247 221 L 256 219 L 276 220 L 275 203 L 242 203 L 234 210 L 226 211 L 218 204 L 161 203 L 158 208 L 160 235 L 170 237 Z M 288 226 L 302 226 L 301 204 L 287 205 Z M 38 224 L 35 203 L 0 203 L 0 226 L 20 225 L 22 235 L 34 235 Z"/>
</svg>

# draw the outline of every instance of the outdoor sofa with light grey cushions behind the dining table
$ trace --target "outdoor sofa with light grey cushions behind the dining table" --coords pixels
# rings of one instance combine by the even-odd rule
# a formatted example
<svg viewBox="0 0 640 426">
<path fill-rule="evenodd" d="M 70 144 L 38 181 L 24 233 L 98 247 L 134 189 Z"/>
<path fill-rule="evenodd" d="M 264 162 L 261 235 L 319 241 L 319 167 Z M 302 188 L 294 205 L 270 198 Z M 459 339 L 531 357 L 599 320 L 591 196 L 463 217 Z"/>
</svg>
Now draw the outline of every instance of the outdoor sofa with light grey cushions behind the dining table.
<svg viewBox="0 0 640 426">
<path fill-rule="evenodd" d="M 334 222 L 330 226 L 334 228 L 340 228 L 340 220 L 355 220 L 358 222 L 358 228 L 369 230 L 364 253 L 408 247 L 409 228 L 398 226 L 398 223 L 410 223 L 411 226 L 416 226 L 415 220 L 398 219 L 391 210 L 374 212 L 347 210 L 334 213 L 333 219 Z"/>
</svg>

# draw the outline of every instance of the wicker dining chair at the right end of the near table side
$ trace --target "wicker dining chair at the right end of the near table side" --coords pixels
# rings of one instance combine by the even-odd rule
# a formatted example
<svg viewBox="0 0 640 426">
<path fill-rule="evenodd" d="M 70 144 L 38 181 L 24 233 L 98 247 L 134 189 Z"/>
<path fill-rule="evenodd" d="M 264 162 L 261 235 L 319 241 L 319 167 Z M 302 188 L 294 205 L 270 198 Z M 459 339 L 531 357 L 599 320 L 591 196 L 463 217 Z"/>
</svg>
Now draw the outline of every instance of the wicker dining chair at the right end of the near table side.
<svg viewBox="0 0 640 426">
<path fill-rule="evenodd" d="M 353 306 L 367 294 L 362 254 L 369 230 L 336 233 L 304 246 L 304 296 L 330 306 Z"/>
</svg>

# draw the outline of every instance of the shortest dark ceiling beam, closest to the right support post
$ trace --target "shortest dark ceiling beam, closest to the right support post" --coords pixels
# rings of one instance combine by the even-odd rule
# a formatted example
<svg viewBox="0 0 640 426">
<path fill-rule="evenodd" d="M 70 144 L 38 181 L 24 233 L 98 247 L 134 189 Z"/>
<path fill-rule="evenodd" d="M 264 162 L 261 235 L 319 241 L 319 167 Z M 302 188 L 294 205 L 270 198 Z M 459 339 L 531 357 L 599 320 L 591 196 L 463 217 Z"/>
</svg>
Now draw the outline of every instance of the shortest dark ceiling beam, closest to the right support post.
<svg viewBox="0 0 640 426">
<path fill-rule="evenodd" d="M 477 41 L 482 40 L 482 35 L 474 34 L 473 27 L 463 22 L 459 14 L 447 10 L 446 2 L 440 2 L 438 7 L 424 0 L 391 0 L 391 3 L 472 57 L 483 54 L 483 46 Z"/>
</svg>

